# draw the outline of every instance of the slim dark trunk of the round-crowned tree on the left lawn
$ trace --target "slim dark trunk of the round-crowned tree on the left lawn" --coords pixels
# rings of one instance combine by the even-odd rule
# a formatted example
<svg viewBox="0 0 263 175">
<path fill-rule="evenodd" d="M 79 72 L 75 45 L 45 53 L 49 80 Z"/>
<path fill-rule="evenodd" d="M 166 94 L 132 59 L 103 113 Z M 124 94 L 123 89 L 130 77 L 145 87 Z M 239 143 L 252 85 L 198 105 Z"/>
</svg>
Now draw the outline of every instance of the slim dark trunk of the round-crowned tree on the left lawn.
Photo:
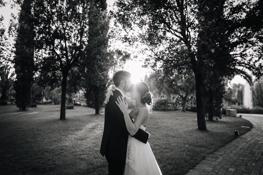
<svg viewBox="0 0 263 175">
<path fill-rule="evenodd" d="M 60 120 L 66 119 L 66 90 L 67 90 L 68 72 L 63 73 L 61 83 L 61 104 L 60 104 Z"/>
</svg>

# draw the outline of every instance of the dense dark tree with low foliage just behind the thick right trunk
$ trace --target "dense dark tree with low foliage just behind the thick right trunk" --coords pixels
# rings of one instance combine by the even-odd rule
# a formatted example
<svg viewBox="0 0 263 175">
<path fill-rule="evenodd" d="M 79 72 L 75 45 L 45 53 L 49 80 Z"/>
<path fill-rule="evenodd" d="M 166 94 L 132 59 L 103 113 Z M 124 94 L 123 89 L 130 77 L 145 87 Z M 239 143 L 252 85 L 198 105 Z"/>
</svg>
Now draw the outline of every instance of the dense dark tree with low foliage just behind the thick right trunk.
<svg viewBox="0 0 263 175">
<path fill-rule="evenodd" d="M 229 1 L 200 2 L 204 5 L 202 10 L 199 10 L 200 17 L 198 17 L 199 24 L 202 26 L 202 30 L 198 34 L 200 35 L 200 40 L 198 40 L 200 43 L 198 52 L 200 53 L 198 55 L 205 53 L 202 56 L 207 57 L 206 60 L 210 60 L 209 62 L 212 65 L 212 67 L 208 67 L 206 73 L 205 84 L 207 88 L 205 88 L 205 96 L 208 118 L 213 120 L 214 114 L 221 114 L 226 79 L 231 79 L 238 74 L 252 85 L 252 78 L 244 71 L 244 67 L 254 72 L 254 74 L 260 73 L 255 64 L 259 63 L 260 60 L 257 54 L 260 53 L 258 45 L 260 46 L 261 41 L 255 39 L 253 35 L 255 33 L 258 36 L 262 35 L 262 30 L 251 29 L 248 20 L 252 16 L 260 19 L 260 16 L 251 14 L 251 11 L 254 13 L 257 11 L 260 14 L 262 10 L 260 12 L 257 7 L 259 1 L 257 1 L 258 4 L 255 3 L 256 5 L 250 1 L 243 1 L 237 5 Z M 248 6 L 254 6 L 254 8 L 248 8 Z M 229 12 L 228 16 L 224 16 L 224 10 Z M 242 13 L 247 13 L 246 17 L 240 15 Z M 232 20 L 232 18 L 235 20 Z M 262 23 L 257 23 L 258 26 L 262 26 Z M 240 33 L 242 33 L 241 36 Z M 254 49 L 256 54 L 247 52 L 248 49 Z M 251 58 L 257 60 L 253 61 Z"/>
</svg>

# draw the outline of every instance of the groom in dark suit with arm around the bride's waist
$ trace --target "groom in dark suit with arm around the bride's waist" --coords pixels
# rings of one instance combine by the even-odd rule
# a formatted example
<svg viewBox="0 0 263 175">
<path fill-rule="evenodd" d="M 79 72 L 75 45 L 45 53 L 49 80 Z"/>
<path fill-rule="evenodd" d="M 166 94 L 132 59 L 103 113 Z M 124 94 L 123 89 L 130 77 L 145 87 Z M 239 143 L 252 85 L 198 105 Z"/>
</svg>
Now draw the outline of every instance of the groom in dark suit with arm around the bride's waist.
<svg viewBox="0 0 263 175">
<path fill-rule="evenodd" d="M 100 153 L 106 157 L 109 175 L 122 175 L 129 132 L 125 125 L 123 113 L 115 101 L 118 96 L 125 97 L 125 93 L 130 92 L 131 74 L 126 71 L 117 71 L 113 76 L 113 82 L 116 90 L 113 92 L 113 96 L 110 97 L 109 102 L 105 104 L 104 131 Z M 133 137 L 147 143 L 149 134 L 139 129 Z"/>
</svg>

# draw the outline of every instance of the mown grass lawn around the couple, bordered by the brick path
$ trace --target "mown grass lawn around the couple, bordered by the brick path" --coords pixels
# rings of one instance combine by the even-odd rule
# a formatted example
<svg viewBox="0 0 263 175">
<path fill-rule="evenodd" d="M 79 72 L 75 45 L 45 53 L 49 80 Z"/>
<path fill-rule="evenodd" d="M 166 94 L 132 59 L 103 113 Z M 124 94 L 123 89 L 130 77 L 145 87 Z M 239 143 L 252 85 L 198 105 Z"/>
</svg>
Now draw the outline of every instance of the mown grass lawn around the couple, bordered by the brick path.
<svg viewBox="0 0 263 175">
<path fill-rule="evenodd" d="M 59 120 L 60 106 L 38 105 L 21 112 L 15 105 L 0 106 L 1 174 L 108 174 L 99 153 L 104 113 L 75 106 Z M 243 118 L 223 117 L 197 129 L 196 113 L 154 111 L 146 130 L 164 175 L 185 174 L 207 155 L 249 131 Z"/>
</svg>

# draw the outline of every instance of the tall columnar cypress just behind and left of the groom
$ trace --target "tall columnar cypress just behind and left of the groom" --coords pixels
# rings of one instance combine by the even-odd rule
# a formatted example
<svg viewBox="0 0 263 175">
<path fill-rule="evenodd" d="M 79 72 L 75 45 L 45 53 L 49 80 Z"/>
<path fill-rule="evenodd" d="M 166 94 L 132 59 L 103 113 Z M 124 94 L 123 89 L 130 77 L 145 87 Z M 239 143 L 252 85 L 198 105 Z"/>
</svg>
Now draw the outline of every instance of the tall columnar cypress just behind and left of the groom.
<svg viewBox="0 0 263 175">
<path fill-rule="evenodd" d="M 85 51 L 84 88 L 87 106 L 95 108 L 95 114 L 99 114 L 105 99 L 108 72 L 113 59 L 107 51 L 108 30 L 106 0 L 91 1 L 89 39 Z"/>
</svg>

